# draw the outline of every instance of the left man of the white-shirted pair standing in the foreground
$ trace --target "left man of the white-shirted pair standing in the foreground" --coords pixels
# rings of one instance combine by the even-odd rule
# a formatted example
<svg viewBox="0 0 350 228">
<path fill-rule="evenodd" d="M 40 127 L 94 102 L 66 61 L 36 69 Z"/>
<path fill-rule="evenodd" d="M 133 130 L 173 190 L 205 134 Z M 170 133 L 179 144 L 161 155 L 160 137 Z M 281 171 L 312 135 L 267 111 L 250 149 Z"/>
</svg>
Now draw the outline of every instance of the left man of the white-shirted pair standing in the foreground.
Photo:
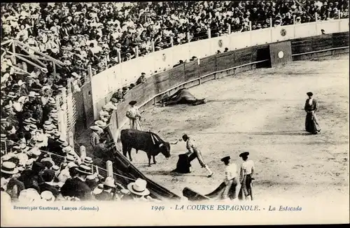
<svg viewBox="0 0 350 228">
<path fill-rule="evenodd" d="M 237 188 L 237 165 L 230 162 L 231 157 L 223 157 L 221 162 L 225 164 L 225 190 L 221 195 L 221 199 L 235 199 L 236 198 L 236 188 Z"/>
</svg>

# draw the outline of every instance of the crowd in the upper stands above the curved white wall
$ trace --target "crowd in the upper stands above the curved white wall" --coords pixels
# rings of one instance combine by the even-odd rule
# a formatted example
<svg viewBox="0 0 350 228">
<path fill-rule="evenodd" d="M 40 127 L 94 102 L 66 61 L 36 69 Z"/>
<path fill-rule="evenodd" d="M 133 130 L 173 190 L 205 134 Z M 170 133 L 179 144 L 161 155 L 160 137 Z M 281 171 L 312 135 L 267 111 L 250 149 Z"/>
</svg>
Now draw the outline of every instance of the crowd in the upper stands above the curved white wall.
<svg viewBox="0 0 350 228">
<path fill-rule="evenodd" d="M 16 38 L 76 71 L 94 73 L 172 45 L 316 20 L 348 17 L 348 1 L 8 3 L 2 41 Z M 295 20 L 294 20 L 295 19 Z M 187 36 L 189 33 L 189 36 Z M 120 59 L 118 58 L 120 53 Z M 79 72 L 77 72 L 79 74 Z"/>
</svg>

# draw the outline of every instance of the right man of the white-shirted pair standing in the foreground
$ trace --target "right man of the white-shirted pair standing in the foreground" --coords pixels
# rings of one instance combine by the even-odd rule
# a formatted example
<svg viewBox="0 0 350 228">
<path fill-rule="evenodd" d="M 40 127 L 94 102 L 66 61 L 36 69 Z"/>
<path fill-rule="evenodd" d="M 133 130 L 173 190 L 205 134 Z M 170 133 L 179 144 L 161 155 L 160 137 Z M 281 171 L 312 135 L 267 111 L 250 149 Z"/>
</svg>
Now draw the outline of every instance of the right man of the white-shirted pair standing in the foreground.
<svg viewBox="0 0 350 228">
<path fill-rule="evenodd" d="M 239 183 L 241 183 L 241 190 L 239 190 L 239 199 L 248 199 L 248 196 L 253 200 L 252 190 L 251 190 L 251 180 L 255 172 L 254 162 L 251 159 L 248 159 L 249 152 L 242 152 L 239 157 L 243 159 L 241 164 L 241 172 L 239 175 Z"/>
</svg>

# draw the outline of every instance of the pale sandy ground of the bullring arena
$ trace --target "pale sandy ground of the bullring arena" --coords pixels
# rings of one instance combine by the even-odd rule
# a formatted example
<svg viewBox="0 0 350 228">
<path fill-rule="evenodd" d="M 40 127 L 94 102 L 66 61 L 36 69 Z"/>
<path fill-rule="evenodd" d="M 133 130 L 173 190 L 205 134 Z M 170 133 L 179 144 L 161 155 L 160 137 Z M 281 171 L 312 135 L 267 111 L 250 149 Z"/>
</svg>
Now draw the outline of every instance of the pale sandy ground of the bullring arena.
<svg viewBox="0 0 350 228">
<path fill-rule="evenodd" d="M 200 106 L 157 107 L 143 113 L 145 130 L 173 141 L 187 133 L 200 145 L 209 167 L 207 178 L 197 159 L 192 173 L 169 173 L 182 141 L 172 157 L 158 155 L 148 167 L 145 152 L 132 151 L 134 164 L 152 180 L 182 196 L 183 187 L 207 194 L 224 178 L 221 157 L 230 155 L 240 166 L 240 152 L 255 162 L 255 199 L 264 197 L 332 197 L 349 195 L 349 56 L 293 62 L 275 69 L 255 69 L 212 80 L 190 92 L 207 98 Z M 321 134 L 304 131 L 306 92 L 319 103 Z"/>
</svg>

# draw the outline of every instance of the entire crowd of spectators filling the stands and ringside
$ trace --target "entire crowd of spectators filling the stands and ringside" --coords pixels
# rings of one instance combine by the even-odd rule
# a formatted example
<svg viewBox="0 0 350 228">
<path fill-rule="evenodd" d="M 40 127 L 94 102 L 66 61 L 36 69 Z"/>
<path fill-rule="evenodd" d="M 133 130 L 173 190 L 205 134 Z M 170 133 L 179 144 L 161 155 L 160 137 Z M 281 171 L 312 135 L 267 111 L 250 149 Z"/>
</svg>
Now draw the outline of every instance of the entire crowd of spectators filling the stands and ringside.
<svg viewBox="0 0 350 228">
<path fill-rule="evenodd" d="M 23 199 L 36 195 L 83 200 L 95 198 L 97 188 L 111 193 L 116 187 L 111 178 L 92 173 L 91 158 L 79 156 L 58 131 L 57 107 L 62 100 L 57 95 L 69 85 L 78 92 L 89 65 L 93 74 L 98 73 L 149 52 L 208 38 L 208 29 L 215 37 L 229 31 L 347 18 L 348 7 L 344 0 L 1 4 L 1 42 L 18 40 L 29 46 L 27 52 L 37 50 L 63 63 L 55 69 L 52 62 L 42 60 L 46 67 L 33 67 L 1 50 L 1 190 L 13 200 L 20 199 L 21 192 Z M 146 73 L 135 84 L 144 82 Z M 110 149 L 104 128 L 111 111 L 134 86 L 118 90 L 99 112 L 91 127 L 97 155 Z M 49 155 L 62 159 L 54 161 Z M 64 186 L 73 179 L 84 183 L 80 183 L 84 193 L 65 192 Z M 143 180 L 137 185 L 144 186 Z M 121 188 L 108 195 L 120 199 L 130 190 Z"/>
</svg>

